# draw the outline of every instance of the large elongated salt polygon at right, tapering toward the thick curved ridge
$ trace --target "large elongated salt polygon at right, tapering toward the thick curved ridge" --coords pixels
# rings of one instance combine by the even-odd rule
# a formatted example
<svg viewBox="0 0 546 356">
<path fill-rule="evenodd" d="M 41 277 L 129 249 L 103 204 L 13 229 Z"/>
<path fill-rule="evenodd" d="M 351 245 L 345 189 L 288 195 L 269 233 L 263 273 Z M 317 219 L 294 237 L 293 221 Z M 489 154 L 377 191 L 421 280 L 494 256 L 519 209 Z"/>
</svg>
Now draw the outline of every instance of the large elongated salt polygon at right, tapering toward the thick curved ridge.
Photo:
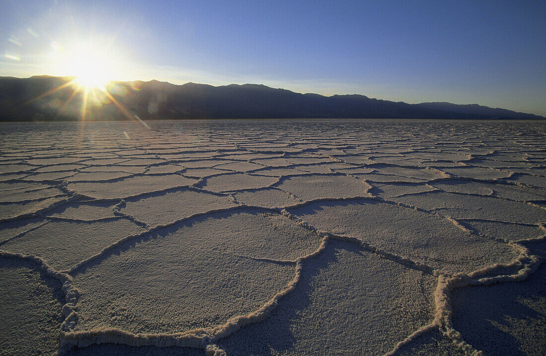
<svg viewBox="0 0 546 356">
<path fill-rule="evenodd" d="M 468 273 L 518 257 L 512 246 L 465 233 L 442 217 L 375 200 L 314 203 L 289 212 L 318 230 L 449 272 Z"/>
</svg>

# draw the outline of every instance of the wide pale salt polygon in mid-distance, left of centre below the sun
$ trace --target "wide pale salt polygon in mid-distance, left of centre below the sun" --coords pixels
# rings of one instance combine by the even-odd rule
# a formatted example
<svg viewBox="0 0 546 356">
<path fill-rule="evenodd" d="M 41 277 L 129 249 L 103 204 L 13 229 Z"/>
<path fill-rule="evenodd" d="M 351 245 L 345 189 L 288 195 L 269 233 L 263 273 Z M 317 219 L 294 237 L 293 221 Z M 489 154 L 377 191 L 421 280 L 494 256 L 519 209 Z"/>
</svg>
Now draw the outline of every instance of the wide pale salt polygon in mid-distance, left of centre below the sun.
<svg viewBox="0 0 546 356">
<path fill-rule="evenodd" d="M 178 174 L 129 177 L 114 182 L 69 183 L 68 188 L 88 197 L 114 199 L 191 186 L 197 180 Z"/>
</svg>

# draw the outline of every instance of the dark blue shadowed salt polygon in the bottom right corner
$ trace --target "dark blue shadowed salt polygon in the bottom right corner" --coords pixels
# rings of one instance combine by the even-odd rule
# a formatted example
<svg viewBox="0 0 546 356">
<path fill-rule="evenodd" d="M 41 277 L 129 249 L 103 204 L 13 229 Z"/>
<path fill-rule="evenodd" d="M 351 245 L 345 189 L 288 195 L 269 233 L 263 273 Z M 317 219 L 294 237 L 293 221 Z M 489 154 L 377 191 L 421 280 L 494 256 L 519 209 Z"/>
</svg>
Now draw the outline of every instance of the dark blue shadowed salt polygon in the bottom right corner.
<svg viewBox="0 0 546 356">
<path fill-rule="evenodd" d="M 546 242 L 527 246 L 546 257 Z M 465 287 L 452 294 L 455 329 L 485 354 L 546 353 L 545 264 L 523 282 Z"/>
</svg>

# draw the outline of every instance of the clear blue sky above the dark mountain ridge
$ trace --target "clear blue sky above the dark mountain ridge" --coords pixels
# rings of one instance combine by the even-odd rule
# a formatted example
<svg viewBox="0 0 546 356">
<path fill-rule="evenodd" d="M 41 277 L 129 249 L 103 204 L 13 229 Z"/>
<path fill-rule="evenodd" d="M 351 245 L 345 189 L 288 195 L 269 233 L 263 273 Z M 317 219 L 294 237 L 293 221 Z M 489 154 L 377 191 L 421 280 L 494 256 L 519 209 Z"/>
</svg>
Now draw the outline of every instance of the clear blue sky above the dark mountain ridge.
<svg viewBox="0 0 546 356">
<path fill-rule="evenodd" d="M 53 42 L 111 41 L 113 79 L 546 115 L 546 1 L 2 0 L 0 34 L 0 75 L 63 74 Z"/>
</svg>

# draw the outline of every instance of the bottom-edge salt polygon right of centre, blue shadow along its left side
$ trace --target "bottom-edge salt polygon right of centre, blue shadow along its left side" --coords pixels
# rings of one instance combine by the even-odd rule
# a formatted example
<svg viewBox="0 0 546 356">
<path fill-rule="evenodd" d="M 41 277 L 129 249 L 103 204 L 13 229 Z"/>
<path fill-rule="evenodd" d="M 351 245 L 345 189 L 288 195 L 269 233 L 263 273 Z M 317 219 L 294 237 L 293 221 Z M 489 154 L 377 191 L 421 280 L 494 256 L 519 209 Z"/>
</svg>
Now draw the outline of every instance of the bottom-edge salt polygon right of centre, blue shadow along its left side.
<svg viewBox="0 0 546 356">
<path fill-rule="evenodd" d="M 383 354 L 431 322 L 436 279 L 331 241 L 263 322 L 217 345 L 228 354 Z M 393 332 L 396 330 L 396 332 Z"/>
</svg>

